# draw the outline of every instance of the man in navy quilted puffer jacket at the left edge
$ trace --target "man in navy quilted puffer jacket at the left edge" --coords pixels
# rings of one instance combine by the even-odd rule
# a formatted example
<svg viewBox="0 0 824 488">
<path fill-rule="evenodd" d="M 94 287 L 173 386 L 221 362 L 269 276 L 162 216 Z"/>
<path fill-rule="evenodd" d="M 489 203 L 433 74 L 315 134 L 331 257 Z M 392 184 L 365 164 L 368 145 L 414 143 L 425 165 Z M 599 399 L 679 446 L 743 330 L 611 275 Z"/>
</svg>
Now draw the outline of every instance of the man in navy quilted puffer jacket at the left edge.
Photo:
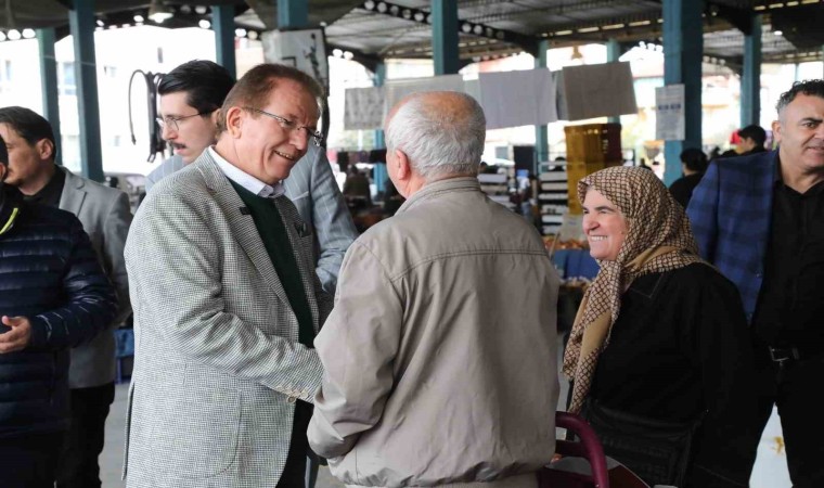
<svg viewBox="0 0 824 488">
<path fill-rule="evenodd" d="M 7 144 L 28 151 L 13 141 L 0 139 L 0 486 L 52 488 L 72 422 L 69 348 L 112 324 L 117 297 L 77 217 L 5 183 Z"/>
</svg>

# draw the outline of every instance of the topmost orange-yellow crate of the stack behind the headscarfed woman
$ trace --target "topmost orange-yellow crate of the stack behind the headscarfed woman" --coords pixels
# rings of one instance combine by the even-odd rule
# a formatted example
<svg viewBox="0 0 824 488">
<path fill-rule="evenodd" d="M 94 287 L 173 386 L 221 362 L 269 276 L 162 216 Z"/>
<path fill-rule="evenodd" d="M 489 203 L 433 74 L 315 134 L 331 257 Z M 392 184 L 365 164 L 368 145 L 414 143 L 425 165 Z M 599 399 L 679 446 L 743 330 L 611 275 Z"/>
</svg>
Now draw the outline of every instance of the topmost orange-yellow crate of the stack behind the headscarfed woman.
<svg viewBox="0 0 824 488">
<path fill-rule="evenodd" d="M 564 127 L 567 160 L 603 163 L 621 159 L 620 124 L 585 124 Z"/>
</svg>

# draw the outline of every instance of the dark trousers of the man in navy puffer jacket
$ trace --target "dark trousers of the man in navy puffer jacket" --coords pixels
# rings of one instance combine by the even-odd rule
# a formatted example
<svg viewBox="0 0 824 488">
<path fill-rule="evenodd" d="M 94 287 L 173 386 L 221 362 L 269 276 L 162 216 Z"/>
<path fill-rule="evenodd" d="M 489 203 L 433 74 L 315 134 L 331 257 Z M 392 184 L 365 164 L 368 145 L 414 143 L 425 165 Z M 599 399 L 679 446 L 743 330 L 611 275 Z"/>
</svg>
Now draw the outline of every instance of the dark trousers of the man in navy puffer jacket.
<svg viewBox="0 0 824 488">
<path fill-rule="evenodd" d="M 63 433 L 0 439 L 0 486 L 52 488 Z"/>
</svg>

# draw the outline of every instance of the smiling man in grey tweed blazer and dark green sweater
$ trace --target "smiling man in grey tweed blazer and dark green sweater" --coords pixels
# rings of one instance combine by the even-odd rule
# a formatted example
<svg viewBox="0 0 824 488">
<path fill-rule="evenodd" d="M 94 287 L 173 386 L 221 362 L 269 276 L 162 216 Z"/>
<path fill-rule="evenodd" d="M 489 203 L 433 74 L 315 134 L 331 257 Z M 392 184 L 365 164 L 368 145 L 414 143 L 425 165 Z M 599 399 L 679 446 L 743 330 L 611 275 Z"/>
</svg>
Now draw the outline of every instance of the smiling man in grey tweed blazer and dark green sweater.
<svg viewBox="0 0 824 488">
<path fill-rule="evenodd" d="M 223 103 L 215 146 L 165 178 L 126 243 L 134 304 L 125 475 L 147 486 L 298 487 L 331 299 L 312 229 L 284 195 L 322 90 L 262 64 Z"/>
</svg>

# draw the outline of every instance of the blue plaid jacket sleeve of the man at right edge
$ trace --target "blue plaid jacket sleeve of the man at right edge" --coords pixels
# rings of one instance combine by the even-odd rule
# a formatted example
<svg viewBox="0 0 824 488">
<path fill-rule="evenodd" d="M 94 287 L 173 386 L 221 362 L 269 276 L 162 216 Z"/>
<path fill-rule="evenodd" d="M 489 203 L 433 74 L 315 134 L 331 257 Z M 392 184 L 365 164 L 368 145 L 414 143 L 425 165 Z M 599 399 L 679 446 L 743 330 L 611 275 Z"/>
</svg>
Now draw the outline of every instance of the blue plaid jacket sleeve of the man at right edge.
<svg viewBox="0 0 824 488">
<path fill-rule="evenodd" d="M 686 215 L 693 234 L 698 243 L 701 257 L 709 262 L 716 259 L 716 242 L 718 240 L 718 198 L 721 174 L 719 163 L 709 165 L 700 182 L 693 191 L 693 197 L 686 207 Z"/>
</svg>

